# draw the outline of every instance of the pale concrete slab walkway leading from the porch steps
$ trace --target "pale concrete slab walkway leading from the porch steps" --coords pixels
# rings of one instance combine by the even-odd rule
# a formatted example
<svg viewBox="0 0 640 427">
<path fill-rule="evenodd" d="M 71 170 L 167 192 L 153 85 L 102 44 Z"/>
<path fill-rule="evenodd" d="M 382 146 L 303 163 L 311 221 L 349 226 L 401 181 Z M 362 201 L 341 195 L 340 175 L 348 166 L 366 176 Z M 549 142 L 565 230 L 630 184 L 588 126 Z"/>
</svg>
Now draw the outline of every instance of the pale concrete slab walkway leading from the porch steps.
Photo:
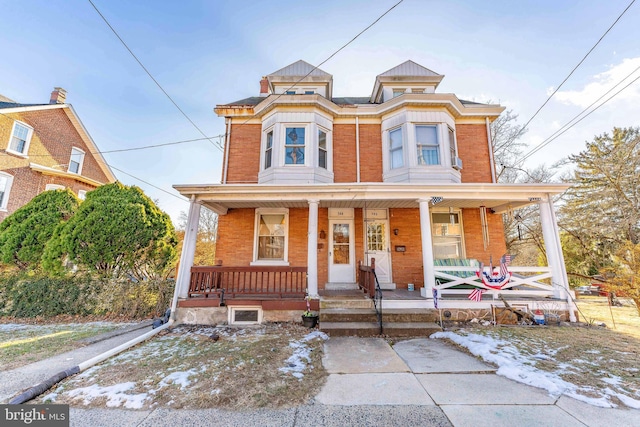
<svg viewBox="0 0 640 427">
<path fill-rule="evenodd" d="M 363 349 L 369 357 L 353 357 Z M 328 406 L 431 406 L 456 427 L 640 425 L 640 411 L 553 398 L 496 375 L 440 340 L 413 339 L 391 348 L 379 338 L 333 338 L 325 344 L 323 364 L 330 375 L 316 401 Z"/>
</svg>

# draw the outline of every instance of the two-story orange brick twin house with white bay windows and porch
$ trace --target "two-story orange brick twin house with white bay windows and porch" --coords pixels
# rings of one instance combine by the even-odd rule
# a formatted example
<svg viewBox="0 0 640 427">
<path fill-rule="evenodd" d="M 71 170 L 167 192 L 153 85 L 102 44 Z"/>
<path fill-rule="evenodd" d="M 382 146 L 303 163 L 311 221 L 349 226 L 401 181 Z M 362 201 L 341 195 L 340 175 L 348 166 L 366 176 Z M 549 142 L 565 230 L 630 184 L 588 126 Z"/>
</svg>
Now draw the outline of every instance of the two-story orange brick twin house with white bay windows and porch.
<svg viewBox="0 0 640 427">
<path fill-rule="evenodd" d="M 568 309 L 551 199 L 567 186 L 496 183 L 490 124 L 504 107 L 438 93 L 443 78 L 407 61 L 378 75 L 370 96 L 334 97 L 332 75 L 298 61 L 264 77 L 259 96 L 217 105 L 222 183 L 174 186 L 191 199 L 183 319 L 206 320 L 221 298 L 230 322 L 234 305 L 247 319 L 252 308 L 254 320 L 286 317 L 300 292 L 322 316 L 323 297 L 375 300 L 376 281 L 387 309 L 489 310 L 500 293 L 525 309 Z M 499 286 L 485 268 L 484 280 L 480 265 L 506 252 L 502 215 L 530 204 L 548 265 L 511 265 Z M 192 267 L 200 205 L 219 215 L 218 266 Z M 473 288 L 486 291 L 479 301 L 467 298 Z"/>
</svg>

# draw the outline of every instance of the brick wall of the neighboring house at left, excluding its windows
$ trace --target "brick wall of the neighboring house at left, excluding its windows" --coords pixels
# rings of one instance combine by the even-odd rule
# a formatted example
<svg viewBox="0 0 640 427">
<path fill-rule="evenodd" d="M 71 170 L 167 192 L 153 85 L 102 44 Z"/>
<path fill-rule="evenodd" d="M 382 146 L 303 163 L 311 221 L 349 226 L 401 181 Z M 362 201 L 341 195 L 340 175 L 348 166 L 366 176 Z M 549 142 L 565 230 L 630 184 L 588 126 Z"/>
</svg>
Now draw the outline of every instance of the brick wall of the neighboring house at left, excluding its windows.
<svg viewBox="0 0 640 427">
<path fill-rule="evenodd" d="M 18 156 L 7 152 L 14 120 L 33 128 L 28 156 Z M 0 171 L 13 176 L 13 184 L 6 211 L 0 211 L 0 220 L 6 218 L 19 207 L 28 203 L 46 189 L 47 184 L 62 185 L 78 191 L 91 191 L 96 186 L 73 176 L 43 174 L 30 165 L 37 164 L 66 172 L 72 147 L 84 151 L 81 177 L 91 181 L 108 183 L 111 181 L 96 158 L 95 148 L 87 146 L 63 108 L 41 109 L 0 115 Z"/>
</svg>

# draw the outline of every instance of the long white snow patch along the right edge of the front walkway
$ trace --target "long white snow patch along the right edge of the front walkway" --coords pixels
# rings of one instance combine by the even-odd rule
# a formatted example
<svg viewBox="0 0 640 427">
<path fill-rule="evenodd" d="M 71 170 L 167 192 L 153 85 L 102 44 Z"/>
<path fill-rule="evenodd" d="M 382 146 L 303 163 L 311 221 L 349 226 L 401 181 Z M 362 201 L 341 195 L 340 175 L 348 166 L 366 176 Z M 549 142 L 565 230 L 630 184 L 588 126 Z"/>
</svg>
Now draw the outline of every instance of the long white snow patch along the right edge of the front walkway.
<svg viewBox="0 0 640 427">
<path fill-rule="evenodd" d="M 631 408 L 640 409 L 640 399 L 633 399 L 608 387 L 602 390 L 594 389 L 592 387 L 581 387 L 567 382 L 560 377 L 560 374 L 566 371 L 580 372 L 580 367 L 578 365 L 581 362 L 587 363 L 584 360 L 574 360 L 575 364 L 573 365 L 566 363 L 561 364 L 558 371 L 546 372 L 536 369 L 535 360 L 532 360 L 532 357 L 529 355 L 521 354 L 517 347 L 511 345 L 509 341 L 500 340 L 491 336 L 464 332 L 461 332 L 460 334 L 454 332 L 436 332 L 431 335 L 431 338 L 449 339 L 454 343 L 465 347 L 473 355 L 479 356 L 485 361 L 498 366 L 498 375 L 502 375 L 511 380 L 533 387 L 545 389 L 551 396 L 559 397 L 560 395 L 566 395 L 576 400 L 603 408 L 616 407 L 616 405 L 610 400 L 610 397 L 615 396 L 625 405 Z M 545 360 L 548 359 L 550 351 L 555 354 L 558 350 L 559 349 L 546 350 L 544 353 L 542 351 L 538 351 L 533 357 L 535 359 Z M 614 377 L 609 380 L 603 379 L 603 381 L 615 387 L 618 385 L 619 379 L 616 380 L 616 377 Z M 585 396 L 585 394 L 595 395 L 598 397 L 589 397 Z"/>
</svg>

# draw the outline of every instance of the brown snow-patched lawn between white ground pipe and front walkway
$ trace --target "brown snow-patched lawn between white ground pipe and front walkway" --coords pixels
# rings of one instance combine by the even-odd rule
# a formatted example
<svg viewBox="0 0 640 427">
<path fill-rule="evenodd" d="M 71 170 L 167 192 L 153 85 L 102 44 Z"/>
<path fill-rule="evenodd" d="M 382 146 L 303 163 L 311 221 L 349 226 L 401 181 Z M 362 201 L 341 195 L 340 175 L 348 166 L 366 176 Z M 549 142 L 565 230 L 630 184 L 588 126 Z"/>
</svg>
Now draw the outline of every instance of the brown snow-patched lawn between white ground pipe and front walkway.
<svg viewBox="0 0 640 427">
<path fill-rule="evenodd" d="M 131 409 L 295 406 L 324 385 L 325 338 L 295 324 L 178 326 L 60 383 L 37 402 Z"/>
</svg>

